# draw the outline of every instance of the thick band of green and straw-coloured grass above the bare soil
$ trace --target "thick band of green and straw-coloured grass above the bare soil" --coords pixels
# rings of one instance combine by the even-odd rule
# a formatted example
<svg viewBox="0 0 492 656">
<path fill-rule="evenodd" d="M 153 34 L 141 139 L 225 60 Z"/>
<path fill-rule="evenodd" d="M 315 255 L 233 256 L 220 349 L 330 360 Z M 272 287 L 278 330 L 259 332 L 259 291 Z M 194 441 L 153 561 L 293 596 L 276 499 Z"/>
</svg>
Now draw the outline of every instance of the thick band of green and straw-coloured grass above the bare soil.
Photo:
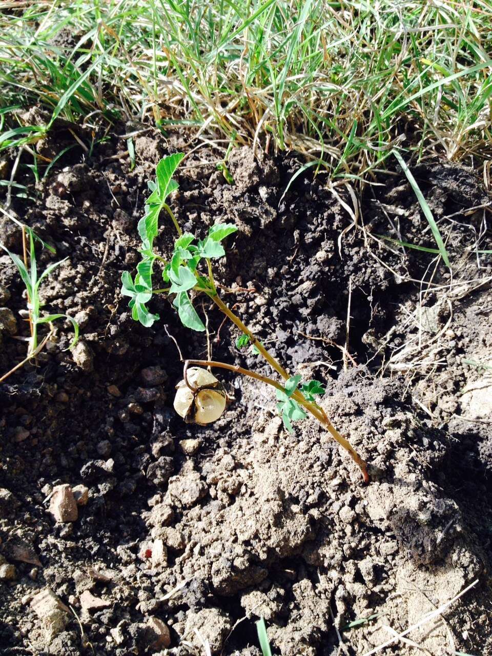
<svg viewBox="0 0 492 656">
<path fill-rule="evenodd" d="M 342 178 L 384 167 L 405 136 L 419 157 L 491 154 L 484 0 L 34 0 L 4 10 L 0 31 L 0 147 L 39 138 L 15 109 L 39 102 L 88 127 L 259 140 Z"/>
</svg>

